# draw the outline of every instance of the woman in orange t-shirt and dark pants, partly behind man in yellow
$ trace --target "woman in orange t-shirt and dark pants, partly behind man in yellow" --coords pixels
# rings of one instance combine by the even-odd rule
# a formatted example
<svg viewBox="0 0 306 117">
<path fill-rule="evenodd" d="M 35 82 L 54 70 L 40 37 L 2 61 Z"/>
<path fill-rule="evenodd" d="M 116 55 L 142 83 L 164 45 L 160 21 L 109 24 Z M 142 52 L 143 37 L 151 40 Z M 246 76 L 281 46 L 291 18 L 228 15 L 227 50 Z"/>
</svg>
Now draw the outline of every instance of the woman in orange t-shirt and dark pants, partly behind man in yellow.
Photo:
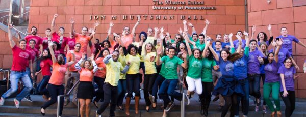
<svg viewBox="0 0 306 117">
<path fill-rule="evenodd" d="M 101 50 L 100 54 L 97 55 L 97 59 L 95 60 L 98 71 L 95 73 L 93 80 L 98 85 L 99 89 L 94 92 L 94 95 L 96 96 L 93 100 L 93 104 L 96 108 L 98 108 L 97 103 L 99 100 L 104 100 L 104 90 L 103 90 L 103 84 L 106 77 L 106 65 L 103 62 L 103 59 L 105 56 L 109 55 L 110 51 L 107 48 L 104 48 Z"/>
</svg>

